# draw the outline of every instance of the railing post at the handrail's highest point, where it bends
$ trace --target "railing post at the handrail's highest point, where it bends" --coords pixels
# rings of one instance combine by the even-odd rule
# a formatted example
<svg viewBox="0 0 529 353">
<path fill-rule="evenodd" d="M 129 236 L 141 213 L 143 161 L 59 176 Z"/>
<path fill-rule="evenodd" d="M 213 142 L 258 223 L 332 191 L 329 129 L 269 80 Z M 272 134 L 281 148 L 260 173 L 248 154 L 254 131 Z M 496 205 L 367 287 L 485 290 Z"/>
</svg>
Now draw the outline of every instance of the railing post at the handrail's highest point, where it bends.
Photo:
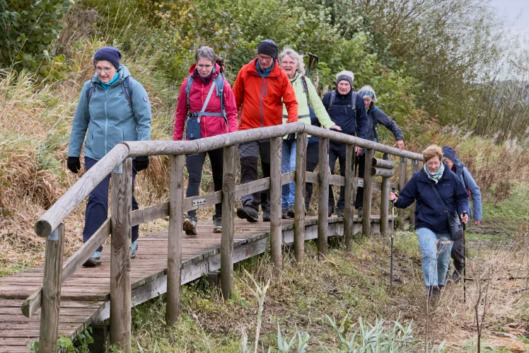
<svg viewBox="0 0 529 353">
<path fill-rule="evenodd" d="M 296 196 L 294 199 L 294 256 L 298 263 L 305 257 L 305 175 L 307 169 L 307 134 L 296 141 Z"/>
</svg>

